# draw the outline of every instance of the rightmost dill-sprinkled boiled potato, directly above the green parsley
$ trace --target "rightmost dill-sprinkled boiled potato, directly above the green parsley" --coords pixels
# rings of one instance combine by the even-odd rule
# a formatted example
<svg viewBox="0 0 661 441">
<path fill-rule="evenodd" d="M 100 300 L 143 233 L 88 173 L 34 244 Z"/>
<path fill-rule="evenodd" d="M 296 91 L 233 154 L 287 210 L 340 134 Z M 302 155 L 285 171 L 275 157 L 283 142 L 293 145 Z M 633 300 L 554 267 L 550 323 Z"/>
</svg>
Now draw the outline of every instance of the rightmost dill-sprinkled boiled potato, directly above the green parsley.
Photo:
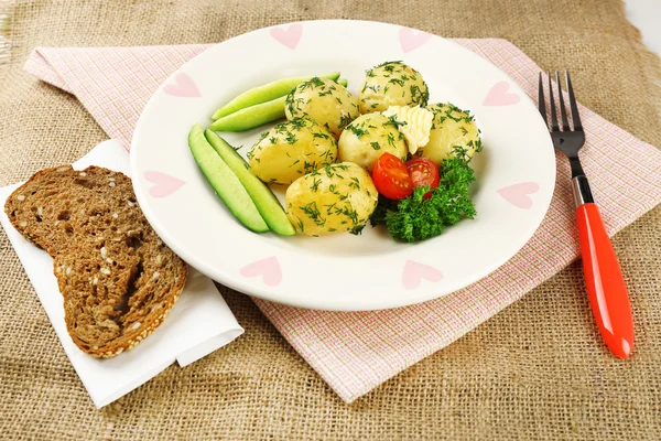
<svg viewBox="0 0 661 441">
<path fill-rule="evenodd" d="M 441 165 L 444 159 L 452 155 L 465 154 L 470 158 L 481 150 L 479 129 L 468 111 L 452 104 L 434 104 L 427 109 L 434 114 L 430 142 L 418 153 Z"/>
</svg>

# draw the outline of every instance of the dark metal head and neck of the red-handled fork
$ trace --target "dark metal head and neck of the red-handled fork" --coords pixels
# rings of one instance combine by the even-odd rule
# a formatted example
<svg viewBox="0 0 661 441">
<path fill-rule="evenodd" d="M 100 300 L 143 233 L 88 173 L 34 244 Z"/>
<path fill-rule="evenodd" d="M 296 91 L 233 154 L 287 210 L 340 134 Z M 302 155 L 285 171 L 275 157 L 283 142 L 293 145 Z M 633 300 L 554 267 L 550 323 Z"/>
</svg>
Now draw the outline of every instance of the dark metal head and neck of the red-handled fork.
<svg viewBox="0 0 661 441">
<path fill-rule="evenodd" d="M 581 161 L 578 160 L 578 151 L 585 143 L 585 132 L 583 131 L 583 126 L 581 123 L 581 116 L 578 115 L 578 106 L 576 105 L 576 97 L 574 96 L 574 89 L 572 88 L 570 73 L 565 71 L 565 83 L 570 99 L 573 129 L 570 127 L 570 120 L 567 118 L 567 110 L 565 108 L 564 96 L 562 93 L 560 74 L 557 71 L 555 71 L 555 84 L 557 88 L 557 99 L 560 101 L 560 106 L 557 107 L 560 108 L 560 122 L 562 123 L 562 127 L 557 121 L 557 111 L 553 94 L 551 73 L 546 73 L 546 76 L 549 77 L 549 107 L 551 109 L 550 132 L 551 139 L 553 140 L 553 147 L 555 150 L 564 153 L 570 159 L 570 165 L 572 168 L 574 202 L 576 205 L 578 206 L 586 202 L 594 202 L 587 179 L 585 178 L 585 172 L 583 171 Z M 541 72 L 539 88 L 540 114 L 542 114 L 542 118 L 544 118 L 544 121 L 546 125 L 549 125 L 549 119 L 546 117 L 546 100 L 544 98 L 544 80 Z"/>
</svg>

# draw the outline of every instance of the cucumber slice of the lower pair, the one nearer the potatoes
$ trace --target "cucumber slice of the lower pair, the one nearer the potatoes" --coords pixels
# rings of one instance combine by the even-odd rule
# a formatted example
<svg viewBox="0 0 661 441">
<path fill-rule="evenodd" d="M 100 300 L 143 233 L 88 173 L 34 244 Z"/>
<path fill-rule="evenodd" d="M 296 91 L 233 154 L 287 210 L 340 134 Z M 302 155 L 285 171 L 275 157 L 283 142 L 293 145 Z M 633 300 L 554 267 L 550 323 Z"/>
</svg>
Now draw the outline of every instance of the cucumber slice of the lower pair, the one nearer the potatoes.
<svg viewBox="0 0 661 441">
<path fill-rule="evenodd" d="M 248 163 L 241 158 L 237 151 L 220 138 L 216 132 L 207 129 L 204 132 L 207 141 L 216 152 L 223 158 L 223 161 L 235 172 L 243 187 L 252 197 L 252 202 L 261 214 L 269 227 L 282 236 L 292 236 L 296 230 L 289 222 L 282 205 L 269 189 L 257 175 L 250 170 Z"/>
</svg>

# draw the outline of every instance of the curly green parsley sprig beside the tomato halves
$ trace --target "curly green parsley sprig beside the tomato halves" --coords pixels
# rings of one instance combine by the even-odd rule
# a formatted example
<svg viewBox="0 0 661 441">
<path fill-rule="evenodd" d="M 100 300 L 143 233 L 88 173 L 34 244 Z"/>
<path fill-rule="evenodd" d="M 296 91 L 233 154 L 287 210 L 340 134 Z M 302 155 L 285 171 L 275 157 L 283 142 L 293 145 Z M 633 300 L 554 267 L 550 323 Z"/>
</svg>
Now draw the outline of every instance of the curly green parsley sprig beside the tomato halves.
<svg viewBox="0 0 661 441">
<path fill-rule="evenodd" d="M 476 215 L 468 194 L 475 173 L 463 158 L 451 158 L 441 164 L 441 183 L 424 195 L 429 187 L 418 187 L 402 201 L 379 198 L 371 217 L 372 226 L 386 225 L 395 240 L 420 241 L 438 236 L 445 228 Z"/>
</svg>

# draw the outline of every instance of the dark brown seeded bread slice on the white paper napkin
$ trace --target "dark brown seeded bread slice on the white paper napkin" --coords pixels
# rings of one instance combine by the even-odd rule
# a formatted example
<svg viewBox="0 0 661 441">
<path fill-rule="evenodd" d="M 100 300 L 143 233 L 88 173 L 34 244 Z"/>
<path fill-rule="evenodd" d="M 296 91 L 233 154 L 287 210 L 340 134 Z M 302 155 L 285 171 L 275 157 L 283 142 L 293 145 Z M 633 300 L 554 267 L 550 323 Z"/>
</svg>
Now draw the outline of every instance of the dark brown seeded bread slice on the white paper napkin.
<svg viewBox="0 0 661 441">
<path fill-rule="evenodd" d="M 4 211 L 53 256 L 67 331 L 90 355 L 131 349 L 163 322 L 184 288 L 186 265 L 151 228 L 122 173 L 42 170 L 11 194 Z"/>
</svg>

